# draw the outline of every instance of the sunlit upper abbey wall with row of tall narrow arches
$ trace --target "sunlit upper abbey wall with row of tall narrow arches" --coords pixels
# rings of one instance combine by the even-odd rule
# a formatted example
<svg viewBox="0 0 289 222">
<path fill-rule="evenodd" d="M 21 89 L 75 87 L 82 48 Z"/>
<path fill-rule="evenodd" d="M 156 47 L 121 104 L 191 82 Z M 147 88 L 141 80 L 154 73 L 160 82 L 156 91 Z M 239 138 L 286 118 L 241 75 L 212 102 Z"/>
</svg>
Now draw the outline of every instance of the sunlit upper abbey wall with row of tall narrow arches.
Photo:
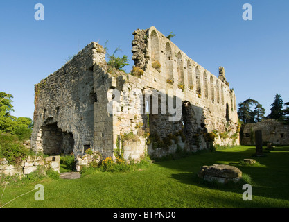
<svg viewBox="0 0 289 222">
<path fill-rule="evenodd" d="M 176 92 L 182 88 L 180 96 L 191 106 L 191 122 L 196 123 L 193 124 L 194 131 L 206 128 L 209 132 L 236 132 L 236 96 L 229 88 L 223 67 L 220 67 L 217 78 L 186 56 L 155 27 L 137 30 L 133 34 L 132 58 L 135 65 L 144 70 L 140 85 L 157 91 L 165 89 L 166 93 L 168 89 Z M 161 65 L 160 69 L 154 68 L 155 61 Z M 220 143 L 225 145 L 225 142 Z"/>
</svg>

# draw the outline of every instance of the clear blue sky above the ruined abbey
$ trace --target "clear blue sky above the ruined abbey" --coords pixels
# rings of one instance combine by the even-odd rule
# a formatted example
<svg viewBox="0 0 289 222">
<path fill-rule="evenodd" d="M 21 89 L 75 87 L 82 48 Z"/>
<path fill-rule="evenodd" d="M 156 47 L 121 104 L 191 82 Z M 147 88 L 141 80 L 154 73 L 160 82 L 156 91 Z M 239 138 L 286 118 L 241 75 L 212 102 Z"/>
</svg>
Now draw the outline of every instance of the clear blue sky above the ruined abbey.
<svg viewBox="0 0 289 222">
<path fill-rule="evenodd" d="M 44 21 L 36 21 L 36 3 Z M 253 20 L 242 19 L 244 3 Z M 33 118 L 34 85 L 92 41 L 131 59 L 132 32 L 155 26 L 202 67 L 225 67 L 237 103 L 249 97 L 270 114 L 276 93 L 289 101 L 289 1 L 73 1 L 0 2 L 0 92 L 14 96 L 16 117 Z M 132 68 L 126 67 L 127 71 Z"/>
</svg>

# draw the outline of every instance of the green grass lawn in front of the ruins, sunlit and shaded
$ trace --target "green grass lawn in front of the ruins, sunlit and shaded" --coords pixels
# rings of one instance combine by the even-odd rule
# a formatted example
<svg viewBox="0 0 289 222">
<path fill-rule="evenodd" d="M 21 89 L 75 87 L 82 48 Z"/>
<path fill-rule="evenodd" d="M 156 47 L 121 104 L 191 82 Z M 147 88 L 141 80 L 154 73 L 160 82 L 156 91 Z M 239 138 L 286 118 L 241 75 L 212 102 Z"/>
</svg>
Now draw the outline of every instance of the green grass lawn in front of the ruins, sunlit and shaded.
<svg viewBox="0 0 289 222">
<path fill-rule="evenodd" d="M 9 185 L 2 205 L 16 196 L 44 185 L 44 201 L 35 192 L 21 196 L 7 207 L 289 207 L 289 147 L 265 151 L 254 157 L 260 164 L 242 166 L 252 158 L 252 146 L 237 146 L 178 160 L 155 162 L 142 170 L 108 173 L 95 171 L 78 180 L 45 179 L 29 185 Z M 195 176 L 200 167 L 231 164 L 252 178 L 252 201 L 244 201 L 242 185 L 214 186 Z M 0 195 L 3 187 L 0 187 Z"/>
</svg>

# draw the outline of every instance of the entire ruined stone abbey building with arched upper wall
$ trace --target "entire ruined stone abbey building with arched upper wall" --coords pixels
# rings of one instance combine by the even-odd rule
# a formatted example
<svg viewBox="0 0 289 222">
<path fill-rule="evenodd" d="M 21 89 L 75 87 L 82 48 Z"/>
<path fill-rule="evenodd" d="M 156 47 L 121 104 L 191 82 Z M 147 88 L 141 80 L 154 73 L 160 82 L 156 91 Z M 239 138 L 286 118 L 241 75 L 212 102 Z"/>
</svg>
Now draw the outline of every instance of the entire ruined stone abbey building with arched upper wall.
<svg viewBox="0 0 289 222">
<path fill-rule="evenodd" d="M 91 42 L 35 85 L 35 151 L 139 160 L 239 144 L 236 96 L 155 27 L 134 31 L 130 74 L 110 69 Z"/>
</svg>

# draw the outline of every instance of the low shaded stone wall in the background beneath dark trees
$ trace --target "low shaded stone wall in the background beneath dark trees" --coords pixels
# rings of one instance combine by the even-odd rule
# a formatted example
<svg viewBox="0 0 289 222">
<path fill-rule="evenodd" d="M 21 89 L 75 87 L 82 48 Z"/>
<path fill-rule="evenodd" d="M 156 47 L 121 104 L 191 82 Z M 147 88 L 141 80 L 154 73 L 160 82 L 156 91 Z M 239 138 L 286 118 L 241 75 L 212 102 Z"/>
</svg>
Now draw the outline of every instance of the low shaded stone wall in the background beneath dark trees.
<svg viewBox="0 0 289 222">
<path fill-rule="evenodd" d="M 241 144 L 255 145 L 254 133 L 262 131 L 263 146 L 267 143 L 274 145 L 289 145 L 289 126 L 275 119 L 265 119 L 259 123 L 248 123 L 244 126 Z"/>
</svg>

